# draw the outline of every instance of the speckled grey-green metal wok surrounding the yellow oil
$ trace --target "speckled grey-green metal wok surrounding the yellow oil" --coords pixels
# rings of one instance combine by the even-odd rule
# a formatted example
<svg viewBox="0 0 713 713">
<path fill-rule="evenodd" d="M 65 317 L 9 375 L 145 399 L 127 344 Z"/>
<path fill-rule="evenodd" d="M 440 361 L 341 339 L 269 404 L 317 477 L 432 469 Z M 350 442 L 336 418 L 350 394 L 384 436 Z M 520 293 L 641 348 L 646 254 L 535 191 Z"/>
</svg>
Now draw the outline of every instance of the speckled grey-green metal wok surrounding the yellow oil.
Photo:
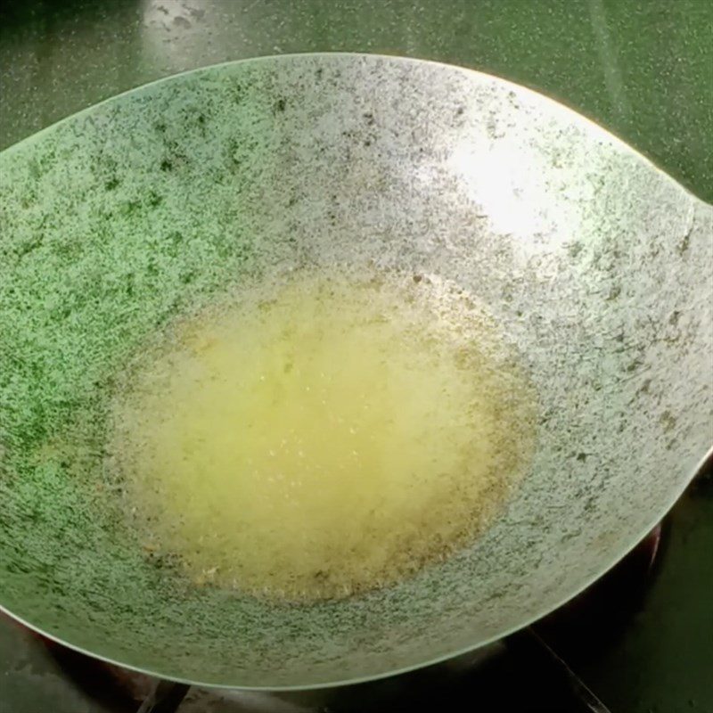
<svg viewBox="0 0 713 713">
<path fill-rule="evenodd" d="M 0 604 L 130 668 L 309 687 L 481 646 L 602 575 L 710 447 L 713 209 L 499 78 L 346 54 L 178 75 L 0 154 L 0 220 Z M 198 301 L 334 262 L 488 306 L 537 388 L 529 471 L 482 537 L 397 585 L 185 586 L 97 495 L 106 375 Z"/>
</svg>

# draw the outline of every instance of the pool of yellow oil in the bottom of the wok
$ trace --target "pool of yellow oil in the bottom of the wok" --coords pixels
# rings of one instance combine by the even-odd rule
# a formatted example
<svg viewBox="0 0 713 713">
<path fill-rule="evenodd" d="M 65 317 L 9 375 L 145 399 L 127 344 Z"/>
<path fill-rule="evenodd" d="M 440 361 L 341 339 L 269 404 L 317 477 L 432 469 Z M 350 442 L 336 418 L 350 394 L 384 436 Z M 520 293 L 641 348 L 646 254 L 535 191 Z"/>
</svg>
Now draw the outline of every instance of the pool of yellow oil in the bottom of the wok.
<svg viewBox="0 0 713 713">
<path fill-rule="evenodd" d="M 470 544 L 527 468 L 534 403 L 495 322 L 453 285 L 306 273 L 147 347 L 111 451 L 145 546 L 198 585 L 309 602 Z"/>
</svg>

